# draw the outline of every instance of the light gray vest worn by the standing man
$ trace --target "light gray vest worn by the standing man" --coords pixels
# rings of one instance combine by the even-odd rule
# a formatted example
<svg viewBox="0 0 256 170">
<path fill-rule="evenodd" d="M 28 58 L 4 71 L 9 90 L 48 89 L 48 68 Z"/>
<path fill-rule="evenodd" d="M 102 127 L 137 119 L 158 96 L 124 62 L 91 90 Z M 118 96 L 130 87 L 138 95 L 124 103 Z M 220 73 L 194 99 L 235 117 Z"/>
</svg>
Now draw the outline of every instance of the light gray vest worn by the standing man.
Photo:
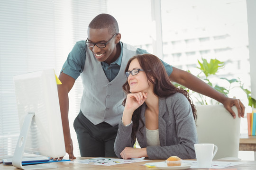
<svg viewBox="0 0 256 170">
<path fill-rule="evenodd" d="M 118 125 L 124 106 L 125 98 L 122 85 L 127 78 L 124 76 L 128 60 L 136 55 L 136 48 L 123 43 L 123 57 L 118 75 L 109 82 L 101 62 L 95 59 L 94 54 L 87 48 L 84 69 L 81 73 L 83 95 L 80 109 L 84 116 L 94 125 L 103 121 L 111 126 Z"/>
</svg>

